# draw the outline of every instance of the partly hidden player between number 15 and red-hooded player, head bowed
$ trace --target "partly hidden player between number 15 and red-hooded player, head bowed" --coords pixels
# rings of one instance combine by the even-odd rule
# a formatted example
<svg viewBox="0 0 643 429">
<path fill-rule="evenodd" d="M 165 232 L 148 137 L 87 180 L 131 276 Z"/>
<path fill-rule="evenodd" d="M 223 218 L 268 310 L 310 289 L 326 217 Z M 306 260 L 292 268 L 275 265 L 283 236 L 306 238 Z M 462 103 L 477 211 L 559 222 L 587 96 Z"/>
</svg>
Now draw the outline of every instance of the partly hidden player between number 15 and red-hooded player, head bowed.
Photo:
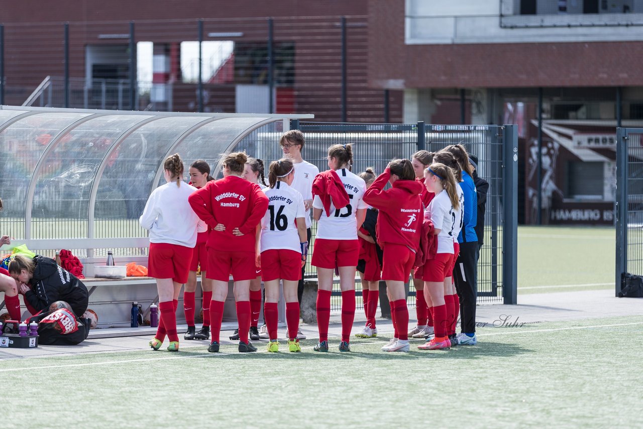
<svg viewBox="0 0 643 429">
<path fill-rule="evenodd" d="M 376 175 L 371 167 L 361 172 L 358 176 L 366 182 L 367 189 L 375 181 Z M 359 333 L 358 338 L 371 338 L 377 336 L 375 313 L 379 301 L 379 280 L 382 278 L 383 251 L 377 244 L 377 208 L 368 206 L 366 218 L 358 231 L 359 261 L 358 273 L 361 277 L 362 301 L 366 324 Z"/>
</svg>

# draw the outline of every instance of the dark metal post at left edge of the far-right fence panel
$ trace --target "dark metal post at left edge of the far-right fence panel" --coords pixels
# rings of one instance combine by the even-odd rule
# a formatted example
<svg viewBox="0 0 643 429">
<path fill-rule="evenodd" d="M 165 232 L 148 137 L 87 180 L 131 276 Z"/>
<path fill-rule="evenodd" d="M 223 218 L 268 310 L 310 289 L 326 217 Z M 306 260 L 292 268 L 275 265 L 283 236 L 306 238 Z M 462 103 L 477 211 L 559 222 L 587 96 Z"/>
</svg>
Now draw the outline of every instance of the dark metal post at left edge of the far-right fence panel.
<svg viewBox="0 0 643 429">
<path fill-rule="evenodd" d="M 628 271 L 628 132 L 616 129 L 616 278 L 615 294 L 622 289 Z"/>
</svg>

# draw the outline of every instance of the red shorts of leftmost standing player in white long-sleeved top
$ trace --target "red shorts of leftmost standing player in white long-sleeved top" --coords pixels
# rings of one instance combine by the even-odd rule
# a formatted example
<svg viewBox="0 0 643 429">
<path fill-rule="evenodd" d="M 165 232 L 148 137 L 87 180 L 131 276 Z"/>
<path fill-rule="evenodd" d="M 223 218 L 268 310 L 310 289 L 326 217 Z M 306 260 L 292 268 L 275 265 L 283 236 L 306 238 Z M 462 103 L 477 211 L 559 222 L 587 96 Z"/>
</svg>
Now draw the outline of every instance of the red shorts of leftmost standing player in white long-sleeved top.
<svg viewBox="0 0 643 429">
<path fill-rule="evenodd" d="M 178 244 L 150 243 L 147 273 L 154 278 L 172 278 L 177 283 L 188 281 L 193 249 Z"/>
</svg>

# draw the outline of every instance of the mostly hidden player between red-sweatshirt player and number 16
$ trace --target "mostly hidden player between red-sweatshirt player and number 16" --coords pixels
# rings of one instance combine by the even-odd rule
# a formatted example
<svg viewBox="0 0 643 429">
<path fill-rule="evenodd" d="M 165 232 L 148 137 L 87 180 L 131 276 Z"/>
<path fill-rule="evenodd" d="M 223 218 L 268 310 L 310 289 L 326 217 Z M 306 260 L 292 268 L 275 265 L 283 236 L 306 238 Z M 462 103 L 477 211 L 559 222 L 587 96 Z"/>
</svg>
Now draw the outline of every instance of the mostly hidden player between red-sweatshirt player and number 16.
<svg viewBox="0 0 643 429">
<path fill-rule="evenodd" d="M 242 178 L 246 179 L 250 183 L 254 183 L 259 187 L 267 187 L 266 177 L 264 176 L 264 161 L 258 160 L 257 158 L 248 157 L 246 166 L 243 170 Z M 259 182 L 261 178 L 261 182 Z M 259 239 L 261 237 L 261 226 L 257 225 L 256 233 L 256 245 L 255 245 L 255 273 L 257 277 L 250 280 L 250 331 L 248 333 L 249 337 L 253 341 L 257 341 L 259 337 L 259 314 L 261 313 L 261 267 L 259 265 Z M 264 317 L 265 319 L 265 317 Z M 239 341 L 239 329 L 235 329 L 235 332 L 230 336 L 230 340 Z"/>
</svg>

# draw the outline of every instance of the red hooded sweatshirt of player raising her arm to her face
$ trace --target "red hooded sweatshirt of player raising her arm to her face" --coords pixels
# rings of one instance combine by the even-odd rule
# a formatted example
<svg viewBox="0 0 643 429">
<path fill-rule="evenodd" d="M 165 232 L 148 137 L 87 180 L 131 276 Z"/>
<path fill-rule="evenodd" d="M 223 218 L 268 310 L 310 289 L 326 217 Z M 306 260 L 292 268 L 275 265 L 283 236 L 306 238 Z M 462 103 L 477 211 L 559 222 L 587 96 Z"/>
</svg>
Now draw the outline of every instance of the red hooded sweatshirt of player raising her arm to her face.
<svg viewBox="0 0 643 429">
<path fill-rule="evenodd" d="M 391 177 L 386 169 L 364 194 L 364 202 L 379 209 L 377 242 L 404 244 L 417 251 L 422 226 L 422 185 L 415 180 L 396 180 L 393 187 L 383 190 Z"/>
</svg>

